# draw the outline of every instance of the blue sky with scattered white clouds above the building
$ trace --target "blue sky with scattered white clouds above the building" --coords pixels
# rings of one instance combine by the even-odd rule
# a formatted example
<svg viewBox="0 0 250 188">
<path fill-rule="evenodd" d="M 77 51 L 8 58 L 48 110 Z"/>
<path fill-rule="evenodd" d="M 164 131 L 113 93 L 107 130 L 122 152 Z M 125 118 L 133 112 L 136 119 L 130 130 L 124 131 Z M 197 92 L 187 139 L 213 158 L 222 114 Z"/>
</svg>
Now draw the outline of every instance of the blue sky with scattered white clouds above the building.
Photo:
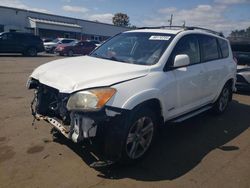
<svg viewBox="0 0 250 188">
<path fill-rule="evenodd" d="M 123 12 L 136 26 L 168 25 L 173 14 L 174 25 L 185 21 L 226 35 L 250 26 L 250 0 L 0 0 L 0 5 L 105 23 Z"/>
</svg>

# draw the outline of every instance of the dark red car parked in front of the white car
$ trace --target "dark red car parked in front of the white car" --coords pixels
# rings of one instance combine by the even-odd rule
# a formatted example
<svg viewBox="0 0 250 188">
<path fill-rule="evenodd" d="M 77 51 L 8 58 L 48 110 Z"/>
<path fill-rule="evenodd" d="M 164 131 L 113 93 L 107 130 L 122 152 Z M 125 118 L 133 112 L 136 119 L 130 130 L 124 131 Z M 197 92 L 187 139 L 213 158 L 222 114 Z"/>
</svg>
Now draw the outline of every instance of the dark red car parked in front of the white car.
<svg viewBox="0 0 250 188">
<path fill-rule="evenodd" d="M 61 56 L 73 56 L 74 54 L 87 55 L 95 48 L 96 44 L 94 44 L 93 42 L 80 41 L 72 45 L 58 45 L 58 47 L 55 49 L 55 53 L 58 53 Z"/>
</svg>

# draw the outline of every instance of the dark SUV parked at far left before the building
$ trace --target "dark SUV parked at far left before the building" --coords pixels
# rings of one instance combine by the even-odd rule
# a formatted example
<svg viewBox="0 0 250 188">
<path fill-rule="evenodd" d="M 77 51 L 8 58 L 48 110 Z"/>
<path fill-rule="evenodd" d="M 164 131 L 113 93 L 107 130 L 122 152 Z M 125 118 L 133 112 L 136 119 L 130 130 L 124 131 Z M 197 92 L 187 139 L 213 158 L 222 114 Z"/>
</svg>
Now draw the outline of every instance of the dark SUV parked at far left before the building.
<svg viewBox="0 0 250 188">
<path fill-rule="evenodd" d="M 43 52 L 43 41 L 30 33 L 0 33 L 0 53 L 22 53 L 26 56 L 37 56 Z"/>
</svg>

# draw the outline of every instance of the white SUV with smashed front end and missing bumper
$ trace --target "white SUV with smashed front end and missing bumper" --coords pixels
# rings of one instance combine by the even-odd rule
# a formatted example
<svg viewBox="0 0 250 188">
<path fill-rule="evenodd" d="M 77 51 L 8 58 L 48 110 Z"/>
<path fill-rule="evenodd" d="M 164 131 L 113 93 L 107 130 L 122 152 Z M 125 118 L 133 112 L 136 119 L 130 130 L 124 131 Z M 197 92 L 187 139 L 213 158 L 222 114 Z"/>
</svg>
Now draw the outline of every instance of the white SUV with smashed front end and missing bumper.
<svg viewBox="0 0 250 188">
<path fill-rule="evenodd" d="M 229 42 L 201 28 L 143 28 L 90 55 L 56 60 L 31 74 L 32 113 L 78 143 L 101 139 L 111 160 L 135 161 L 159 126 L 208 109 L 225 111 L 235 89 Z M 98 139 L 98 140 L 99 140 Z"/>
</svg>

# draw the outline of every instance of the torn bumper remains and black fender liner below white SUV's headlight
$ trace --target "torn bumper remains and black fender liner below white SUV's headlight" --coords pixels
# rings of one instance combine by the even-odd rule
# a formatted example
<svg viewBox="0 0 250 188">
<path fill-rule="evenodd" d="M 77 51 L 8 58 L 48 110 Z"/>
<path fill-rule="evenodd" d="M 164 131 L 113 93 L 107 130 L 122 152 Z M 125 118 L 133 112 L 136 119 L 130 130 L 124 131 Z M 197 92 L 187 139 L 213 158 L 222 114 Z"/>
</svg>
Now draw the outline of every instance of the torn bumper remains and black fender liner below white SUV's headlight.
<svg viewBox="0 0 250 188">
<path fill-rule="evenodd" d="M 116 161 L 121 157 L 129 115 L 130 111 L 113 107 L 105 107 L 101 112 L 95 113 L 71 112 L 71 123 L 68 126 L 56 118 L 39 115 L 36 118 L 45 120 L 75 143 L 94 137 L 101 140 L 104 158 Z"/>
</svg>

